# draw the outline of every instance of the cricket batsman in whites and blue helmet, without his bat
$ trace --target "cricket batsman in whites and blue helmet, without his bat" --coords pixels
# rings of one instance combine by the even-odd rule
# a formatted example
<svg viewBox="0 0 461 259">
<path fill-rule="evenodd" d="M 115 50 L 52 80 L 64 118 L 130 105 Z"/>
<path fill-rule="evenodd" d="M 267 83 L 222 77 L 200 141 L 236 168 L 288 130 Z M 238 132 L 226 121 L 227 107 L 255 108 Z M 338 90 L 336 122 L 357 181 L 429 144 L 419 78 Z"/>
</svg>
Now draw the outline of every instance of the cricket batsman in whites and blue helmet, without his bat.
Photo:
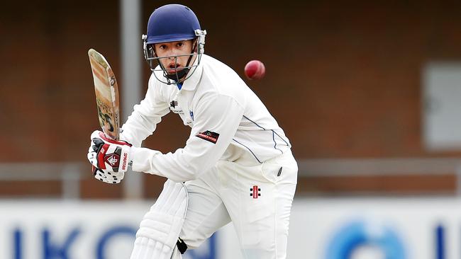
<svg viewBox="0 0 461 259">
<path fill-rule="evenodd" d="M 130 259 L 182 258 L 230 221 L 244 258 L 287 258 L 298 172 L 291 144 L 240 76 L 204 54 L 205 36 L 187 6 L 153 11 L 143 35 L 152 70 L 145 98 L 120 141 L 91 134 L 88 159 L 106 183 L 120 183 L 128 166 L 167 178 Z M 140 147 L 170 112 L 191 128 L 185 146 L 167 154 Z"/>
</svg>

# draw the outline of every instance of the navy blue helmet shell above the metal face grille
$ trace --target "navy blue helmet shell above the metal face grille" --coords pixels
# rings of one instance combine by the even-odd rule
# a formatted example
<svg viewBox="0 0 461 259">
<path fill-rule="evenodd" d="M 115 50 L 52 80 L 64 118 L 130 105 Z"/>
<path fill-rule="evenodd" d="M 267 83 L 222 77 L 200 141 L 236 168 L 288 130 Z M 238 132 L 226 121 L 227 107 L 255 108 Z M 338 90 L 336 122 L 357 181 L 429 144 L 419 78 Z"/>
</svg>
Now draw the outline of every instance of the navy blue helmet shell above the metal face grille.
<svg viewBox="0 0 461 259">
<path fill-rule="evenodd" d="M 192 40 L 201 30 L 199 19 L 187 6 L 167 4 L 150 15 L 146 44 Z"/>
</svg>

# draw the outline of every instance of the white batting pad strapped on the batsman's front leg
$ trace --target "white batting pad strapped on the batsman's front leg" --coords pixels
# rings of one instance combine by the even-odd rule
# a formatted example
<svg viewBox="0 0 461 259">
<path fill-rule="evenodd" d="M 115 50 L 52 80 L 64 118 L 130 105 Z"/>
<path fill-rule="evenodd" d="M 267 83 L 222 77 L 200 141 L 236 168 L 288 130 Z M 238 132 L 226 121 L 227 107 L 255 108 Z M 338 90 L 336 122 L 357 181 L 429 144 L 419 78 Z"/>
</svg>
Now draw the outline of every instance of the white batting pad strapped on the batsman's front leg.
<svg viewBox="0 0 461 259">
<path fill-rule="evenodd" d="M 136 233 L 135 246 L 130 259 L 170 259 L 181 258 L 176 247 L 189 197 L 184 183 L 167 180 L 162 193 L 145 214 Z"/>
</svg>

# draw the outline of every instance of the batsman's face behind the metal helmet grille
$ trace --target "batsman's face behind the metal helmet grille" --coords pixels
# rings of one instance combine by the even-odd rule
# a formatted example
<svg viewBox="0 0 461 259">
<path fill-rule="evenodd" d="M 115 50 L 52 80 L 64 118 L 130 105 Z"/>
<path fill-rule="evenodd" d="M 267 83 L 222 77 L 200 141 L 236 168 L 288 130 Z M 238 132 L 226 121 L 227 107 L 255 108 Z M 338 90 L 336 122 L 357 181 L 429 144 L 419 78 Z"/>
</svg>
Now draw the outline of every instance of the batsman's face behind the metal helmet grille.
<svg viewBox="0 0 461 259">
<path fill-rule="evenodd" d="M 168 74 L 174 74 L 177 71 L 184 69 L 187 65 L 192 52 L 192 40 L 182 40 L 174 42 L 164 42 L 155 44 L 155 54 L 160 57 L 163 67 Z M 163 57 L 163 58 L 162 58 Z M 194 63 L 196 53 L 191 58 L 189 66 Z"/>
</svg>

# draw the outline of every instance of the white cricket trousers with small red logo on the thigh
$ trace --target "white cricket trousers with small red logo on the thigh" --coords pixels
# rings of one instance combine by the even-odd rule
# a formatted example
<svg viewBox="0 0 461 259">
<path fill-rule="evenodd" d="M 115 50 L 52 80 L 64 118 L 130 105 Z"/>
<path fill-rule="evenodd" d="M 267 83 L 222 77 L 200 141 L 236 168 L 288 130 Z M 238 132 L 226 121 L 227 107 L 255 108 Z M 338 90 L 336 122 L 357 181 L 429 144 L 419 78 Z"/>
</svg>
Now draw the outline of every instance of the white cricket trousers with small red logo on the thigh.
<svg viewBox="0 0 461 259">
<path fill-rule="evenodd" d="M 180 238 L 197 248 L 233 221 L 246 259 L 287 258 L 291 203 L 298 166 L 290 150 L 255 166 L 218 161 L 186 183 L 189 207 Z"/>
</svg>

